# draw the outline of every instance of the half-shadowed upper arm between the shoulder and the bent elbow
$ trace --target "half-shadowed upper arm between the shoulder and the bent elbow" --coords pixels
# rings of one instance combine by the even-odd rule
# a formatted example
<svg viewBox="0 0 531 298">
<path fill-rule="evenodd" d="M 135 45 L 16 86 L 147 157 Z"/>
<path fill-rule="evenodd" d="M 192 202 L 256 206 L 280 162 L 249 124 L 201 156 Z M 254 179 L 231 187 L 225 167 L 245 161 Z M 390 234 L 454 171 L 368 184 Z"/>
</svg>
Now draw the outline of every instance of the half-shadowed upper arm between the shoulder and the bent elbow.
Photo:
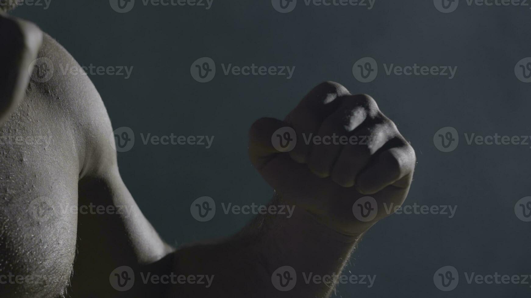
<svg viewBox="0 0 531 298">
<path fill-rule="evenodd" d="M 79 205 L 87 212 L 78 216 L 78 257 L 72 284 L 83 293 L 116 295 L 109 284 L 111 272 L 124 265 L 136 272 L 157 263 L 173 248 L 162 241 L 122 180 L 103 101 L 91 82 L 82 88 L 88 88 L 90 94 L 90 101 L 80 103 L 78 111 L 84 148 Z"/>
</svg>

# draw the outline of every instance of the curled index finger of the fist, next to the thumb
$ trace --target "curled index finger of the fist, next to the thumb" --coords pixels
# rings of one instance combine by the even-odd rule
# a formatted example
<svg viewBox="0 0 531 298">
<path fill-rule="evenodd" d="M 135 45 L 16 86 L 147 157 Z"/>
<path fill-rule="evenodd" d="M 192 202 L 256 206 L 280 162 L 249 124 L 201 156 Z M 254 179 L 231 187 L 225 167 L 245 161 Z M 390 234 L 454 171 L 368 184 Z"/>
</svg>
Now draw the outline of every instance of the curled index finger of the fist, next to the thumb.
<svg viewBox="0 0 531 298">
<path fill-rule="evenodd" d="M 310 144 L 304 142 L 304 136 L 315 134 L 321 123 L 340 105 L 340 97 L 349 95 L 348 90 L 334 82 L 324 82 L 308 93 L 303 100 L 288 114 L 285 121 L 297 132 L 299 142 L 289 152 L 293 160 L 304 164 L 310 154 Z"/>
</svg>

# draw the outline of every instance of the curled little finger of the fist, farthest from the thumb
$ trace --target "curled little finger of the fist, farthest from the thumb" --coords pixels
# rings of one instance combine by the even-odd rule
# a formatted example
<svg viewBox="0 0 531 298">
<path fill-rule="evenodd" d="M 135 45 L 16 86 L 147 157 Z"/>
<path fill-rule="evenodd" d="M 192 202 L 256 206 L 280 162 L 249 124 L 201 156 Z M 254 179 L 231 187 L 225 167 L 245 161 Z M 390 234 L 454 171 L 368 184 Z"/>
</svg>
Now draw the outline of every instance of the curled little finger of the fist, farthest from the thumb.
<svg viewBox="0 0 531 298">
<path fill-rule="evenodd" d="M 387 149 L 387 147 L 390 147 Z M 415 151 L 403 138 L 391 139 L 356 177 L 356 189 L 374 194 L 389 185 L 409 185 L 415 167 Z M 407 183 L 401 179 L 405 178 Z"/>
</svg>

